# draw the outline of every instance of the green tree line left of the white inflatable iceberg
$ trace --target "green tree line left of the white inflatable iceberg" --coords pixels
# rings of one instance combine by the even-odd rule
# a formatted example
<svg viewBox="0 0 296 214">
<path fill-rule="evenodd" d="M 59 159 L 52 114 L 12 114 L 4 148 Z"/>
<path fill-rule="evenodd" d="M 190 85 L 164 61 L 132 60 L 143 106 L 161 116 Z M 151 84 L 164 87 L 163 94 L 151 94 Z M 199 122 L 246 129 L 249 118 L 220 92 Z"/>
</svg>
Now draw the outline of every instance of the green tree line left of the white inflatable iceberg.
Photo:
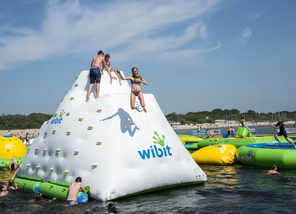
<svg viewBox="0 0 296 214">
<path fill-rule="evenodd" d="M 40 128 L 45 121 L 53 115 L 32 113 L 26 115 L 4 115 L 0 116 L 0 130 Z"/>
</svg>

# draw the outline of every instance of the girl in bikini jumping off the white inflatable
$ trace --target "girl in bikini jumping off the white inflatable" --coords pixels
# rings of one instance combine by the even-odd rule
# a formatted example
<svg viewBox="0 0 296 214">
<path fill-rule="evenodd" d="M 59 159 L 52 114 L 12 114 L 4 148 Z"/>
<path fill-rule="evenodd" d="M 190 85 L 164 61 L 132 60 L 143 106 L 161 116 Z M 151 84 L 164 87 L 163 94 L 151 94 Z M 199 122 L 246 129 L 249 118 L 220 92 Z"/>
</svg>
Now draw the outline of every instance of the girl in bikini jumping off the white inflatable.
<svg viewBox="0 0 296 214">
<path fill-rule="evenodd" d="M 136 101 L 136 96 L 138 96 L 141 106 L 144 110 L 144 112 L 147 112 L 147 109 L 145 108 L 145 102 L 144 102 L 144 97 L 141 89 L 141 83 L 144 85 L 148 85 L 146 80 L 142 76 L 138 76 L 138 68 L 133 67 L 132 68 L 132 73 L 133 76 L 131 77 L 123 77 L 122 74 L 117 71 L 117 73 L 120 75 L 122 80 L 130 80 L 132 84 L 132 91 L 131 91 L 131 108 L 136 109 L 138 112 L 140 112 L 138 106 L 135 107 L 135 101 Z"/>
</svg>

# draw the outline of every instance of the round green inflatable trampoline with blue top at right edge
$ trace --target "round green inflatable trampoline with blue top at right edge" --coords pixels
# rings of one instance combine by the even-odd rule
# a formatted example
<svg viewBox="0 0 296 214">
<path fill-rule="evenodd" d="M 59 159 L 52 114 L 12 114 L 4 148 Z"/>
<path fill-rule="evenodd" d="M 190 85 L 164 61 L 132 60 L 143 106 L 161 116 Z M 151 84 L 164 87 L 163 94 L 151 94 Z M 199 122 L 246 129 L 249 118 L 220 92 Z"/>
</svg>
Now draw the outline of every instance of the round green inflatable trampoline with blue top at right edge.
<svg viewBox="0 0 296 214">
<path fill-rule="evenodd" d="M 291 143 L 258 143 L 239 147 L 236 159 L 247 166 L 279 169 L 296 169 L 296 149 Z"/>
</svg>

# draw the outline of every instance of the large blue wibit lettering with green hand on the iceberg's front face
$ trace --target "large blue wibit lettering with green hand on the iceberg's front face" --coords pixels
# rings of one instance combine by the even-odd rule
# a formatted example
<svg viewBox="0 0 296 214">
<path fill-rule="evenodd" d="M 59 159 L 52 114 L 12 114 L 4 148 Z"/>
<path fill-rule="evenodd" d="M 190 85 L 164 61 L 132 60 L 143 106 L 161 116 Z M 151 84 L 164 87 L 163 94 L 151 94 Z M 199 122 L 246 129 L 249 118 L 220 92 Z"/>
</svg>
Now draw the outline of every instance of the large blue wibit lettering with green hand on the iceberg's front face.
<svg viewBox="0 0 296 214">
<path fill-rule="evenodd" d="M 158 137 L 158 139 L 153 136 L 153 139 L 155 139 L 156 141 L 153 141 L 153 143 L 155 144 L 159 144 L 160 146 L 162 146 L 162 148 L 157 148 L 157 146 L 151 145 L 149 149 L 146 150 L 142 150 L 142 151 L 138 151 L 140 157 L 145 160 L 145 159 L 150 159 L 151 156 L 152 158 L 161 158 L 163 156 L 167 157 L 167 156 L 172 156 L 171 153 L 171 147 L 169 147 L 168 145 L 166 147 L 164 147 L 164 138 L 165 136 L 162 135 L 162 139 L 160 139 L 160 137 L 158 136 L 158 133 L 156 131 L 154 131 L 154 134 L 156 135 L 156 137 Z"/>
</svg>

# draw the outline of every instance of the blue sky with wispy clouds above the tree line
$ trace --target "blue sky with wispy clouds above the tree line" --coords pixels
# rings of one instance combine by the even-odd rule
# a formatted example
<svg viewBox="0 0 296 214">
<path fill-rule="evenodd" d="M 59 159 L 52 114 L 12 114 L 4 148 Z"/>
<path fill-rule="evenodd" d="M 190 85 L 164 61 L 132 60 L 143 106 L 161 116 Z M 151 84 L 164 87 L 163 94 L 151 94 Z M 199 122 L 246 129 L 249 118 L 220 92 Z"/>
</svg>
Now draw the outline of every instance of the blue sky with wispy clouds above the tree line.
<svg viewBox="0 0 296 214">
<path fill-rule="evenodd" d="M 0 114 L 53 113 L 102 49 L 164 114 L 295 111 L 295 0 L 14 0 L 0 7 Z"/>
</svg>

